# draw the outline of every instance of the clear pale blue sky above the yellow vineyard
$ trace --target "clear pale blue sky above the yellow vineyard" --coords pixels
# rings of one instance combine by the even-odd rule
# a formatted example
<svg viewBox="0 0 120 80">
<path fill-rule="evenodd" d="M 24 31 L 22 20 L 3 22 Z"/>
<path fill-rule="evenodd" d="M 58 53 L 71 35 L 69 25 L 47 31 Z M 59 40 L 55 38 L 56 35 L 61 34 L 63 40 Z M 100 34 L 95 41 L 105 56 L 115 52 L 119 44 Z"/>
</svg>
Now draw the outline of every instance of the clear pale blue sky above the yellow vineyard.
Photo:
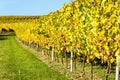
<svg viewBox="0 0 120 80">
<path fill-rule="evenodd" d="M 46 15 L 71 0 L 0 0 L 0 16 Z"/>
</svg>

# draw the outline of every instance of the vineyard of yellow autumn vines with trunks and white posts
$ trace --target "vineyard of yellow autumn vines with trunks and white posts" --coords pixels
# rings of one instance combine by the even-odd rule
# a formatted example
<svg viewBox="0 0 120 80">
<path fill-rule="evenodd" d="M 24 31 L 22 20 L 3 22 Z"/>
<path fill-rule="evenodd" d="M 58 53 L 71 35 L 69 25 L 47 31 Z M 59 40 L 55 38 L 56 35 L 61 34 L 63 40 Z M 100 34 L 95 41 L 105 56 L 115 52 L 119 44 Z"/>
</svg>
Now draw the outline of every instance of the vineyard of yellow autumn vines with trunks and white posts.
<svg viewBox="0 0 120 80">
<path fill-rule="evenodd" d="M 61 63 L 66 75 L 75 73 L 79 63 L 82 78 L 89 65 L 89 79 L 95 80 L 94 66 L 99 65 L 106 69 L 101 80 L 118 80 L 119 0 L 75 0 L 44 16 L 1 16 L 1 33 L 3 29 L 13 30 L 22 44 Z"/>
</svg>

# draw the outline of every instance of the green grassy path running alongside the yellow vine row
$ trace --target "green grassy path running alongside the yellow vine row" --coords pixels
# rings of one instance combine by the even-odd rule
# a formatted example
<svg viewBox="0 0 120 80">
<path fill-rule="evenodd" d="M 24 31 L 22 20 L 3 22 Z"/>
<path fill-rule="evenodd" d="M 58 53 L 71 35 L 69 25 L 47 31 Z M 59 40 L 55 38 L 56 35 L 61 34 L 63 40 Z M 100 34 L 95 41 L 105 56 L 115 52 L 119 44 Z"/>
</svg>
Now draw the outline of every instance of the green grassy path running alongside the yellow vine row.
<svg viewBox="0 0 120 80">
<path fill-rule="evenodd" d="M 22 48 L 15 36 L 0 36 L 0 80 L 67 79 Z"/>
</svg>

